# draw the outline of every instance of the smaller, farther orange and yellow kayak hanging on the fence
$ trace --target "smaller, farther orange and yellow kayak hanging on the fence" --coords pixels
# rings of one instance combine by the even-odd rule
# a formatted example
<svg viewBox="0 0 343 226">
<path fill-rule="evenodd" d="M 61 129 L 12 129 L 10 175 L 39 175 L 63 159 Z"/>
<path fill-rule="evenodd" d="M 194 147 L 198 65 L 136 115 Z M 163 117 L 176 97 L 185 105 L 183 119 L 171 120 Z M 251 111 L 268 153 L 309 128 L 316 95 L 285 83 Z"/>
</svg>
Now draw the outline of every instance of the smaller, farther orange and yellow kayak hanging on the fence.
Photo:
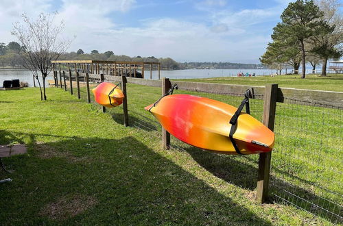
<svg viewBox="0 0 343 226">
<path fill-rule="evenodd" d="M 114 108 L 123 103 L 124 95 L 115 84 L 102 82 L 92 90 L 95 101 L 106 108 Z"/>
</svg>

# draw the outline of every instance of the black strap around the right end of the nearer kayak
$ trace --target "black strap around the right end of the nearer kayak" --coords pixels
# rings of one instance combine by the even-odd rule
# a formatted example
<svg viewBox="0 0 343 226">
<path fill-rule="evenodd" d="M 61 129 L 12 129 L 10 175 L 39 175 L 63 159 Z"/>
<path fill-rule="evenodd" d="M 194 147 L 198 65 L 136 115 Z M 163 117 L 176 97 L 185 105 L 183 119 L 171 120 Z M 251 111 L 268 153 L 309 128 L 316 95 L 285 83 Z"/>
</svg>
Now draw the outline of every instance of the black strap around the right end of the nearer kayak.
<svg viewBox="0 0 343 226">
<path fill-rule="evenodd" d="M 241 101 L 241 105 L 239 105 L 239 107 L 237 108 L 237 111 L 235 112 L 235 114 L 233 114 L 232 118 L 230 119 L 231 129 L 230 129 L 229 137 L 230 137 L 231 142 L 233 143 L 233 147 L 235 148 L 235 151 L 239 155 L 244 155 L 244 154 L 241 153 L 241 151 L 239 151 L 237 147 L 237 143 L 235 139 L 233 138 L 233 134 L 235 134 L 235 131 L 237 129 L 238 116 L 239 114 L 241 114 L 241 110 L 243 110 L 244 105 L 246 106 L 246 113 L 250 114 L 249 97 L 252 97 L 252 88 L 246 90 L 246 93 L 244 93 L 244 99 L 243 101 Z"/>
</svg>

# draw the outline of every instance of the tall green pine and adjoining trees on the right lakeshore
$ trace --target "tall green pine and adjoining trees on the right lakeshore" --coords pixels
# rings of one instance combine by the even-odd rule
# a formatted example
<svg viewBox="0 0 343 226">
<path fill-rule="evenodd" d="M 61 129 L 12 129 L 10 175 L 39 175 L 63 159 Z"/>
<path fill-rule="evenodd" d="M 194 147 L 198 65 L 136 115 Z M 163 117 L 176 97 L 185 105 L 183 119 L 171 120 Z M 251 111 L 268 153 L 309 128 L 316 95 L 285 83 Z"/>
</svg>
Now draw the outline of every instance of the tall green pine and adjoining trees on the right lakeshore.
<svg viewBox="0 0 343 226">
<path fill-rule="evenodd" d="M 343 54 L 342 3 L 337 0 L 297 0 L 289 3 L 281 14 L 281 23 L 273 29 L 272 42 L 261 58 L 261 63 L 281 70 L 292 66 L 305 78 L 305 64 L 313 71 L 322 64 L 322 76 L 327 75 L 327 61 Z"/>
</svg>

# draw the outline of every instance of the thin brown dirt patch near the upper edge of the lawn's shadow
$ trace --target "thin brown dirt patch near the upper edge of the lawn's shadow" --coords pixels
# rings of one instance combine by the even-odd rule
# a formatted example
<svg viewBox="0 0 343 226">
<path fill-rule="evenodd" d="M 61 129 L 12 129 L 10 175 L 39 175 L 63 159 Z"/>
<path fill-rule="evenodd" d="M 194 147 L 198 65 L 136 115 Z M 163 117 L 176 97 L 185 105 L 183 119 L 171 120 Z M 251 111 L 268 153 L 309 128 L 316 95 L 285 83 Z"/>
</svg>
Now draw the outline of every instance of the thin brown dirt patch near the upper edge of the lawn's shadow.
<svg viewBox="0 0 343 226">
<path fill-rule="evenodd" d="M 83 157 L 76 157 L 71 155 L 68 152 L 62 152 L 56 149 L 55 147 L 51 147 L 50 145 L 39 143 L 34 146 L 34 149 L 38 151 L 37 156 L 38 158 L 49 159 L 49 158 L 65 158 L 68 162 L 88 162 L 90 158 L 86 156 Z"/>
</svg>

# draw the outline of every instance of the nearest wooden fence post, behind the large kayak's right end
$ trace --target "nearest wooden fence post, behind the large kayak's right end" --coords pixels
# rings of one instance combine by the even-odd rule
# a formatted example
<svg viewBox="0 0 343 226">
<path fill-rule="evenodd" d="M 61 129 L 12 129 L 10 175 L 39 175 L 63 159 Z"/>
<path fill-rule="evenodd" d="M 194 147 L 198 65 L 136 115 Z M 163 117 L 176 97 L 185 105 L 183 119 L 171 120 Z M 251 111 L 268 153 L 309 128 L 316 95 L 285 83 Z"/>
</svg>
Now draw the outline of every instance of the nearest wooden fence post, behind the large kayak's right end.
<svg viewBox="0 0 343 226">
<path fill-rule="evenodd" d="M 272 131 L 274 131 L 277 93 L 278 84 L 265 86 L 263 124 Z M 271 158 L 272 152 L 259 154 L 259 175 L 257 177 L 257 201 L 259 203 L 264 203 L 268 199 Z"/>
</svg>

